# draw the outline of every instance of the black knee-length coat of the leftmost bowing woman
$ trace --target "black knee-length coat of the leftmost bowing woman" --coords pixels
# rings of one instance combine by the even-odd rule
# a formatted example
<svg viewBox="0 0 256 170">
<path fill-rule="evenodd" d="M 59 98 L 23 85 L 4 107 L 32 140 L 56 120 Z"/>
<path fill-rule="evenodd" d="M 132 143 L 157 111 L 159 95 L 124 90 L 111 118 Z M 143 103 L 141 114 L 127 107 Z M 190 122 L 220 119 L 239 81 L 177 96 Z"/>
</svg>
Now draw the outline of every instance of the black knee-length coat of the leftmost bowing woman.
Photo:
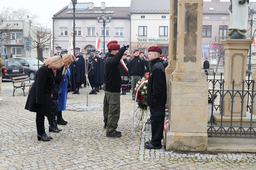
<svg viewBox="0 0 256 170">
<path fill-rule="evenodd" d="M 42 65 L 36 72 L 33 85 L 28 93 L 25 109 L 49 116 L 51 111 L 51 94 L 55 82 L 55 75 L 52 69 Z M 36 103 L 40 106 L 35 108 Z"/>
</svg>

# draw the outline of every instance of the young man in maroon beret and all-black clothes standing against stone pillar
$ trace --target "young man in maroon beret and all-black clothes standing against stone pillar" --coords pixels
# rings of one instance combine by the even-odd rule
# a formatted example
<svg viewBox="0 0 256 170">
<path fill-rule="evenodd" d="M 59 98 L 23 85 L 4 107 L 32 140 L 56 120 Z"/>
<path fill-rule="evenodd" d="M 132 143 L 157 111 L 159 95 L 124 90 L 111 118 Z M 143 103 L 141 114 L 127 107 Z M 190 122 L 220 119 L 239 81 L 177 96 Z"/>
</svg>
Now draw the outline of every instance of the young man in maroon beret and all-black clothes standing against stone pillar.
<svg viewBox="0 0 256 170">
<path fill-rule="evenodd" d="M 148 48 L 149 60 L 152 63 L 149 69 L 147 84 L 147 102 L 150 105 L 151 114 L 151 141 L 147 141 L 146 149 L 161 149 L 163 139 L 163 125 L 165 104 L 167 100 L 166 75 L 163 64 L 160 63 L 162 49 L 158 46 Z"/>
</svg>

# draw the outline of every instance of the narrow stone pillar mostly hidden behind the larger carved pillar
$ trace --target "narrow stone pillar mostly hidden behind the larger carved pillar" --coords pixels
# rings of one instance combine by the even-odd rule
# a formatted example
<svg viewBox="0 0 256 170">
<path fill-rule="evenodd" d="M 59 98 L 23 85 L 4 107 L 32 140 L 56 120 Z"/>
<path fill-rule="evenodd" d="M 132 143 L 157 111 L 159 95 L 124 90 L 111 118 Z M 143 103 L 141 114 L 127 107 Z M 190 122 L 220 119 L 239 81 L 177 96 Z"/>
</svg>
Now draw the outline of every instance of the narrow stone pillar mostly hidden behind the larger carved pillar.
<svg viewBox="0 0 256 170">
<path fill-rule="evenodd" d="M 171 73 L 176 69 L 176 55 L 177 55 L 177 20 L 178 20 L 178 0 L 170 0 L 170 26 L 169 26 L 169 64 L 165 69 L 166 84 L 167 84 L 167 102 L 166 107 L 169 106 L 169 88 Z"/>
</svg>

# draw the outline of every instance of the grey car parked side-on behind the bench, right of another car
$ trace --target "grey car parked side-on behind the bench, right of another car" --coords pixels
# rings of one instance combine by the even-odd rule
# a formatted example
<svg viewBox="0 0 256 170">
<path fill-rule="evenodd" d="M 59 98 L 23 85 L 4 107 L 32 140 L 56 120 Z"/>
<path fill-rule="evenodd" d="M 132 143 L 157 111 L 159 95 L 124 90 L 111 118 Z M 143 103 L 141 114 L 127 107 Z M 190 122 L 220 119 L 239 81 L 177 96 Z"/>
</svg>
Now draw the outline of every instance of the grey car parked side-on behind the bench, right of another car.
<svg viewBox="0 0 256 170">
<path fill-rule="evenodd" d="M 28 75 L 30 80 L 34 80 L 36 76 L 36 71 L 38 69 L 38 60 L 37 58 L 25 58 L 25 57 L 16 57 L 12 58 L 13 60 L 19 60 L 22 66 L 24 67 L 25 75 Z M 39 60 L 39 67 L 44 63 Z"/>
</svg>

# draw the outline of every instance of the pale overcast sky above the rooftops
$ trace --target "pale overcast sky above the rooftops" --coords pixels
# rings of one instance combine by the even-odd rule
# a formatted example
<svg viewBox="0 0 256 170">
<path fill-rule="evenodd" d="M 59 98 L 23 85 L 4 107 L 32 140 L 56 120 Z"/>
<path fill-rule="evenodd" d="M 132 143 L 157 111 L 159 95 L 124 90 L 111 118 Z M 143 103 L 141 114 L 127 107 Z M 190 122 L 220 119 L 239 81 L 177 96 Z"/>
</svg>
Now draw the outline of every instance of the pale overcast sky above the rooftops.
<svg viewBox="0 0 256 170">
<path fill-rule="evenodd" d="M 77 3 L 93 2 L 94 7 L 100 7 L 102 1 L 106 3 L 106 7 L 129 7 L 131 4 L 131 0 L 77 0 Z M 250 2 L 256 2 L 256 0 L 250 0 Z M 39 16 L 37 21 L 43 26 L 52 27 L 53 14 L 61 10 L 66 5 L 69 5 L 69 3 L 71 3 L 71 0 L 1 0 L 1 7 L 11 7 L 14 9 L 25 7 L 30 9 L 31 14 L 37 14 Z M 154 6 L 152 5 L 152 7 Z"/>
</svg>

